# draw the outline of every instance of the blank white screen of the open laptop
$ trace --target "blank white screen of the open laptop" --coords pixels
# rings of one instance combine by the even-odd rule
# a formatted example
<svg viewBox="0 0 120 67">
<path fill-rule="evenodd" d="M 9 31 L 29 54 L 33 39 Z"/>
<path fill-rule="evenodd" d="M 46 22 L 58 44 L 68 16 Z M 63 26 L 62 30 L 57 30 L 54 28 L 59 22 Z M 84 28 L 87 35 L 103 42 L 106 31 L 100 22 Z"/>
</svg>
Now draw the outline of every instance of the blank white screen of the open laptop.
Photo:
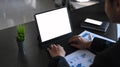
<svg viewBox="0 0 120 67">
<path fill-rule="evenodd" d="M 67 8 L 37 14 L 35 17 L 42 42 L 72 32 Z"/>
</svg>

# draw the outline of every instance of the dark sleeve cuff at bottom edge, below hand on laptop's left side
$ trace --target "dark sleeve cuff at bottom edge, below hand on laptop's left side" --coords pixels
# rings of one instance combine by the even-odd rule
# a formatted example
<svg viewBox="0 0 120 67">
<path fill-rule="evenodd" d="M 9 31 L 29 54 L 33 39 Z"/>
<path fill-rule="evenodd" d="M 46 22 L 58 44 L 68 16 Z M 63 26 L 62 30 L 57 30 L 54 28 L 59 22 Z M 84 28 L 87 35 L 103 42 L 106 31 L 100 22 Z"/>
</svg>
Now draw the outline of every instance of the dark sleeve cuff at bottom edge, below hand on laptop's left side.
<svg viewBox="0 0 120 67">
<path fill-rule="evenodd" d="M 57 56 L 50 60 L 48 67 L 70 67 L 70 66 L 64 57 Z"/>
</svg>

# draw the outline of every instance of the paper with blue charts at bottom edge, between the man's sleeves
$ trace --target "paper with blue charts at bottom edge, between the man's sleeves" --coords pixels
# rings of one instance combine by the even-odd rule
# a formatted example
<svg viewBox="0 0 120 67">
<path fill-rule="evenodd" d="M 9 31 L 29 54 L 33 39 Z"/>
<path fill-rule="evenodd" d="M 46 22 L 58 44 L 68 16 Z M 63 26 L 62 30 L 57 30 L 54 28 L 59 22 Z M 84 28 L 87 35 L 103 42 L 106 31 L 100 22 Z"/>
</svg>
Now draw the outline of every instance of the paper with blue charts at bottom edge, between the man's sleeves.
<svg viewBox="0 0 120 67">
<path fill-rule="evenodd" d="M 78 50 L 65 57 L 70 67 L 89 67 L 95 55 L 88 50 Z"/>
</svg>

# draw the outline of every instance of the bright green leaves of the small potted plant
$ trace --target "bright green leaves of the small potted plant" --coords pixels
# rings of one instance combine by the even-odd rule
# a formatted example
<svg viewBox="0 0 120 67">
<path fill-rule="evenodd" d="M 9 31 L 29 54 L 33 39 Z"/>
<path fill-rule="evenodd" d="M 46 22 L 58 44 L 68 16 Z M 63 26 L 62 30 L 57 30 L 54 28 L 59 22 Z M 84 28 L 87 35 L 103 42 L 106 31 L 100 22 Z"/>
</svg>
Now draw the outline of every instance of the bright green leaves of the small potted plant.
<svg viewBox="0 0 120 67">
<path fill-rule="evenodd" d="M 17 26 L 17 41 L 22 42 L 25 40 L 25 27 L 24 25 Z"/>
</svg>

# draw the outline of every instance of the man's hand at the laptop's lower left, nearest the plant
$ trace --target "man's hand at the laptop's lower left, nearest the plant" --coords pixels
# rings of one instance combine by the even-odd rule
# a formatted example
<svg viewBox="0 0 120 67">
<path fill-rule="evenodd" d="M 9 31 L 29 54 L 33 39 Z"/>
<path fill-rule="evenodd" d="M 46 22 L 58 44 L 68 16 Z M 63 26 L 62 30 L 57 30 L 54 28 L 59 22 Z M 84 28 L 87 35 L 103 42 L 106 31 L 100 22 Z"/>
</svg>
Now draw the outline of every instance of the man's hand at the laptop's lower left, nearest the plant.
<svg viewBox="0 0 120 67">
<path fill-rule="evenodd" d="M 50 48 L 47 48 L 48 52 L 50 53 L 51 57 L 62 56 L 65 57 L 65 50 L 60 45 L 52 44 Z"/>
</svg>

